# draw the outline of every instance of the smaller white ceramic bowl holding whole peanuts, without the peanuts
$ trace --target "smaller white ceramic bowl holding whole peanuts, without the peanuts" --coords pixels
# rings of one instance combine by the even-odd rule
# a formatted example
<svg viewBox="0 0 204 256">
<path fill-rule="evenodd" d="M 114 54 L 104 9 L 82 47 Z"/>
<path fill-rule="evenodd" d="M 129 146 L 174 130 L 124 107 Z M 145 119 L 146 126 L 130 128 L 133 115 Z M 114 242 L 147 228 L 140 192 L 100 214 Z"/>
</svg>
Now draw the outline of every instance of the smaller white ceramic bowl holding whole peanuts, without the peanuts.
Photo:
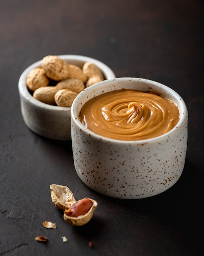
<svg viewBox="0 0 204 256">
<path fill-rule="evenodd" d="M 69 64 L 82 67 L 87 61 L 97 65 L 104 74 L 105 79 L 115 77 L 114 72 L 94 58 L 80 55 L 59 55 L 60 58 Z M 71 120 L 70 110 L 68 107 L 58 107 L 42 103 L 33 98 L 26 86 L 26 76 L 35 67 L 39 67 L 42 63 L 37 61 L 21 74 L 18 89 L 20 95 L 21 112 L 25 124 L 35 133 L 43 137 L 56 140 L 71 139 Z"/>
</svg>

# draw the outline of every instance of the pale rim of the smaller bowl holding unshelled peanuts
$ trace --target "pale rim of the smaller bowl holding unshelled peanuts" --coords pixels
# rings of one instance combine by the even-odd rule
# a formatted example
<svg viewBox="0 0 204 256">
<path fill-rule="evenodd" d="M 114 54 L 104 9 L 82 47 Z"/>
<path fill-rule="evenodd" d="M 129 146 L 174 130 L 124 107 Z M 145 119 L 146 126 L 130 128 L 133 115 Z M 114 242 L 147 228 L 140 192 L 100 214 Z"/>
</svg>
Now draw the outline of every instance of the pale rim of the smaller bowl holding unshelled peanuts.
<svg viewBox="0 0 204 256">
<path fill-rule="evenodd" d="M 115 78 L 115 74 L 112 71 L 110 67 L 108 67 L 105 63 L 92 58 L 88 56 L 83 55 L 74 55 L 74 54 L 64 54 L 64 55 L 57 55 L 59 58 L 62 58 L 65 61 L 82 61 L 82 62 L 93 62 L 96 64 L 104 73 L 104 75 L 108 76 L 109 78 Z M 42 59 L 39 61 L 36 61 L 35 63 L 32 63 L 29 65 L 20 75 L 19 81 L 18 81 L 18 90 L 20 96 L 24 97 L 27 101 L 29 101 L 31 104 L 37 106 L 38 108 L 46 108 L 47 110 L 51 111 L 70 111 L 71 107 L 59 107 L 59 106 L 53 106 L 46 104 L 44 102 L 38 101 L 37 99 L 33 98 L 33 96 L 30 94 L 27 85 L 26 85 L 26 76 L 28 73 L 33 70 L 35 67 L 39 67 L 42 64 Z"/>
</svg>

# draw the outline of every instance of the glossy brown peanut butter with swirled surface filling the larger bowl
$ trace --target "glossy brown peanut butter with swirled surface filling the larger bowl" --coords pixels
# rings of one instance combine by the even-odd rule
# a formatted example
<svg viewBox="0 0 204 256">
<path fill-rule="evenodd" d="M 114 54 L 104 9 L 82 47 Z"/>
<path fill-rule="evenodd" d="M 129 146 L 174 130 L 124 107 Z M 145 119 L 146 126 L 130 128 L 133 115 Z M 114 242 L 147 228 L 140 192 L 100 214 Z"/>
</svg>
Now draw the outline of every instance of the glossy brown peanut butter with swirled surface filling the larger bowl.
<svg viewBox="0 0 204 256">
<path fill-rule="evenodd" d="M 94 97 L 79 113 L 81 123 L 96 134 L 129 141 L 163 135 L 178 123 L 179 116 L 173 101 L 128 89 Z"/>
</svg>

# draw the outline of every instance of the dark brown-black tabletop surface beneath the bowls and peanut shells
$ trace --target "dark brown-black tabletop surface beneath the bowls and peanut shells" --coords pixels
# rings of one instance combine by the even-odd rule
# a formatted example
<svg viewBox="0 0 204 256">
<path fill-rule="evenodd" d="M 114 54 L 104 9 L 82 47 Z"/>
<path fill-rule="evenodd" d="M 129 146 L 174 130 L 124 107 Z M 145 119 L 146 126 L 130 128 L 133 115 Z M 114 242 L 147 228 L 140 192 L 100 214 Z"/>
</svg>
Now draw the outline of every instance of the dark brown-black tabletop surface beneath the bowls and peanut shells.
<svg viewBox="0 0 204 256">
<path fill-rule="evenodd" d="M 195 256 L 203 251 L 204 89 L 201 0 L 5 0 L 0 3 L 0 256 Z M 89 189 L 75 172 L 70 141 L 24 124 L 18 79 L 47 55 L 96 58 L 117 77 L 177 91 L 189 111 L 184 171 L 152 198 L 119 200 Z M 66 185 L 98 202 L 73 227 L 50 198 Z M 46 229 L 52 221 L 57 229 Z M 46 236 L 46 243 L 35 241 Z M 68 241 L 62 242 L 62 236 Z M 93 247 L 88 243 L 92 241 Z"/>
</svg>

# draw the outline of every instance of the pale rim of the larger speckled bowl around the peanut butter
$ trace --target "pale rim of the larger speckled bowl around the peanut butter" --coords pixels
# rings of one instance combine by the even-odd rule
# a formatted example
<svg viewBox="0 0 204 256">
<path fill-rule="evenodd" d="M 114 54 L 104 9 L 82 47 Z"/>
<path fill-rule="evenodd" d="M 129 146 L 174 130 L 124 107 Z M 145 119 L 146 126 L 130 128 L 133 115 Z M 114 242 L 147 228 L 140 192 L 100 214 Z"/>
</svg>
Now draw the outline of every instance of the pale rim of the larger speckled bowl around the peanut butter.
<svg viewBox="0 0 204 256">
<path fill-rule="evenodd" d="M 78 102 L 80 102 L 81 96 L 83 96 L 84 94 L 85 95 L 88 94 L 90 91 L 94 91 L 95 88 L 99 88 L 100 85 L 102 87 L 103 85 L 110 84 L 113 82 L 121 82 L 121 81 L 125 82 L 125 81 L 129 81 L 129 80 L 150 83 L 150 84 L 156 85 L 160 89 L 162 88 L 162 90 L 165 90 L 165 92 L 169 92 L 169 94 L 173 94 L 175 96 L 175 98 L 177 98 L 180 103 L 180 109 L 179 109 L 180 120 L 178 121 L 178 124 L 176 124 L 175 127 L 173 127 L 171 130 L 169 130 L 165 134 L 154 137 L 154 138 L 143 139 L 143 140 L 119 140 L 119 139 L 111 139 L 111 138 L 96 134 L 92 130 L 89 130 L 88 128 L 86 128 L 79 121 L 78 114 L 77 114 L 77 105 L 78 105 Z M 114 87 L 114 90 L 117 90 L 117 88 Z M 107 92 L 109 92 L 109 91 L 111 91 L 111 90 L 109 89 Z M 91 98 L 87 98 L 86 101 L 88 101 Z M 118 143 L 127 144 L 128 143 L 128 144 L 139 145 L 139 144 L 151 144 L 151 143 L 161 141 L 161 139 L 166 138 L 166 137 L 170 136 L 171 134 L 173 134 L 174 132 L 176 132 L 178 127 L 182 126 L 185 123 L 186 118 L 188 118 L 188 110 L 187 110 L 186 104 L 185 104 L 184 100 L 182 99 L 182 97 L 177 92 L 175 92 L 175 90 L 171 89 L 170 87 L 168 87 L 167 85 L 164 85 L 162 83 L 159 83 L 159 82 L 156 82 L 153 80 L 149 80 L 149 79 L 137 78 L 137 77 L 117 77 L 114 79 L 108 79 L 108 80 L 96 83 L 96 84 L 92 85 L 91 87 L 88 87 L 88 88 L 84 89 L 82 92 L 80 92 L 78 94 L 78 96 L 75 98 L 75 100 L 73 101 L 72 107 L 71 107 L 71 122 L 72 123 L 75 122 L 75 124 L 78 126 L 78 128 L 80 128 L 80 130 L 84 131 L 87 135 L 91 135 L 94 139 L 98 139 L 98 140 L 103 139 L 103 141 L 111 142 L 113 144 L 118 144 Z"/>
</svg>

